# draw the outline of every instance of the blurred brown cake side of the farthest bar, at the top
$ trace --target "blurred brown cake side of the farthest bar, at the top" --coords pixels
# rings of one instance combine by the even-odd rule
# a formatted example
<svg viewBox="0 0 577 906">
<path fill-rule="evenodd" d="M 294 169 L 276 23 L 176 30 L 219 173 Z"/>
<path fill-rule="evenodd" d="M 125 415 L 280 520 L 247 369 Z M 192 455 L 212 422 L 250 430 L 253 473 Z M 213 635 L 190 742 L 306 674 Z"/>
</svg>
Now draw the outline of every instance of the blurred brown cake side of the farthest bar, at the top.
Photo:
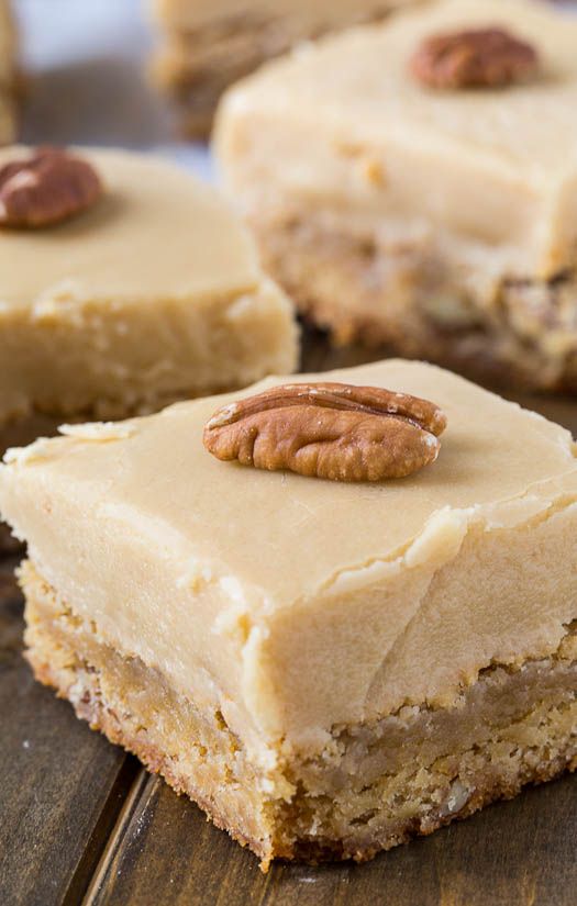
<svg viewBox="0 0 577 906">
<path fill-rule="evenodd" d="M 356 22 L 377 22 L 390 8 L 387 2 L 375 3 L 374 12 L 357 16 Z M 248 11 L 198 29 L 167 26 L 164 45 L 153 58 L 152 77 L 176 104 L 180 132 L 192 138 L 206 138 L 229 86 L 295 44 L 330 31 L 329 22 L 311 33 L 298 20 Z"/>
</svg>

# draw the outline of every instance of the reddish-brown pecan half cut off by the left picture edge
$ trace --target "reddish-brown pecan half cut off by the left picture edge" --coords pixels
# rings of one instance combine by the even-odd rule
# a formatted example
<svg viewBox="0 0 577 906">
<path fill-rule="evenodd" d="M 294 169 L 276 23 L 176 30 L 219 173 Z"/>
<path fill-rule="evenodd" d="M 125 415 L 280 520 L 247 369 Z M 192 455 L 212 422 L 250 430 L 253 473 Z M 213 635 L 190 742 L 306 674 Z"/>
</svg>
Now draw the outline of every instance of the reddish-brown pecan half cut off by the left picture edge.
<svg viewBox="0 0 577 906">
<path fill-rule="evenodd" d="M 0 167 L 0 226 L 52 226 L 88 210 L 101 193 L 99 176 L 87 160 L 38 148 L 32 157 Z"/>
</svg>

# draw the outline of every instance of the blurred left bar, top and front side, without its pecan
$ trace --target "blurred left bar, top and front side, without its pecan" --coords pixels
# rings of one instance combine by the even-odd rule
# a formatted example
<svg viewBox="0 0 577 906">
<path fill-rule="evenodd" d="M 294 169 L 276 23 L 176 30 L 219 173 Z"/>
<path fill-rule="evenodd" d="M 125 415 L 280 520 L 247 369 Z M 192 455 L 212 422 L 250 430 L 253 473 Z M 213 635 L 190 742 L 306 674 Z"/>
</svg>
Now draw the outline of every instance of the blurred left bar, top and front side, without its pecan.
<svg viewBox="0 0 577 906">
<path fill-rule="evenodd" d="M 2 231 L 0 423 L 116 417 L 293 368 L 291 306 L 229 208 L 152 157 L 82 156 L 106 187 L 90 211 Z"/>
</svg>

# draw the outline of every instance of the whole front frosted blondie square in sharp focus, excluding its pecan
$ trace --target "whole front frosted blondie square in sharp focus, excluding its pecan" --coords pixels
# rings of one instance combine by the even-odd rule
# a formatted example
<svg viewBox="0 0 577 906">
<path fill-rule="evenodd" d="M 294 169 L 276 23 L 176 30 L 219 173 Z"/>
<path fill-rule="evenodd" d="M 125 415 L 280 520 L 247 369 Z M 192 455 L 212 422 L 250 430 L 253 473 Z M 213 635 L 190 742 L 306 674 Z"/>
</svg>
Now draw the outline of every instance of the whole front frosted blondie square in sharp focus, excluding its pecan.
<svg viewBox="0 0 577 906">
<path fill-rule="evenodd" d="M 423 363 L 299 381 L 432 401 L 436 461 L 345 482 L 211 456 L 214 411 L 269 378 L 0 468 L 36 676 L 265 866 L 368 859 L 577 767 L 569 434 Z"/>
</svg>

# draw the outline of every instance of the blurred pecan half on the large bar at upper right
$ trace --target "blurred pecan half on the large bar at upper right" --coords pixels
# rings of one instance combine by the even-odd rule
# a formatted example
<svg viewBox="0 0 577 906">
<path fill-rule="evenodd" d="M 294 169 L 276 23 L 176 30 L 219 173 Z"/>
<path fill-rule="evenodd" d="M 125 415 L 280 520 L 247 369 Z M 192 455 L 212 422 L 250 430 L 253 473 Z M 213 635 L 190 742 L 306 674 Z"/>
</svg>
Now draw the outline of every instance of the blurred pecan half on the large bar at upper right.
<svg viewBox="0 0 577 906">
<path fill-rule="evenodd" d="M 522 81 L 539 65 L 531 44 L 504 29 L 432 35 L 410 60 L 413 76 L 430 88 L 497 88 Z"/>
</svg>

